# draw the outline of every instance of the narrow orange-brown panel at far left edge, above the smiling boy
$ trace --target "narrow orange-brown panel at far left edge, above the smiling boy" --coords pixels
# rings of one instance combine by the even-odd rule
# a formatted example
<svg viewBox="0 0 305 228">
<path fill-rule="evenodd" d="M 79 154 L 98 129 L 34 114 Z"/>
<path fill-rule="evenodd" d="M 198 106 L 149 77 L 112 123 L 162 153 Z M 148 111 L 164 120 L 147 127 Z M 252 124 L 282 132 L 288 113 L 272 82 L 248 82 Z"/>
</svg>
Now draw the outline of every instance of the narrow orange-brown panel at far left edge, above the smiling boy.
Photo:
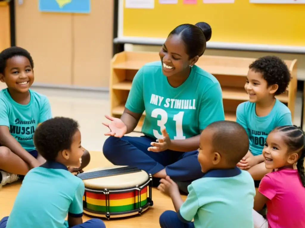
<svg viewBox="0 0 305 228">
<path fill-rule="evenodd" d="M 0 52 L 10 47 L 10 39 L 9 6 L 6 2 L 0 2 Z"/>
</svg>

